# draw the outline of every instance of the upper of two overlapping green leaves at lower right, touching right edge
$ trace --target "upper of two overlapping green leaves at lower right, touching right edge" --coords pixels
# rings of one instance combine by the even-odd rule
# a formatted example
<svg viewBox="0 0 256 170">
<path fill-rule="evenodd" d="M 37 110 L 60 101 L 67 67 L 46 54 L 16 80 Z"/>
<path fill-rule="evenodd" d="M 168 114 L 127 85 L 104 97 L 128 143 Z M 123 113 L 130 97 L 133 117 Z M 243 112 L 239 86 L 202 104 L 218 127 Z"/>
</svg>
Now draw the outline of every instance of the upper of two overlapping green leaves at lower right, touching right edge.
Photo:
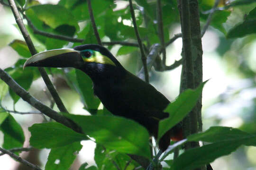
<svg viewBox="0 0 256 170">
<path fill-rule="evenodd" d="M 256 146 L 256 134 L 249 134 L 233 127 L 210 127 L 205 132 L 187 137 L 188 141 L 227 142 Z M 245 142 L 245 143 L 244 143 Z"/>
</svg>

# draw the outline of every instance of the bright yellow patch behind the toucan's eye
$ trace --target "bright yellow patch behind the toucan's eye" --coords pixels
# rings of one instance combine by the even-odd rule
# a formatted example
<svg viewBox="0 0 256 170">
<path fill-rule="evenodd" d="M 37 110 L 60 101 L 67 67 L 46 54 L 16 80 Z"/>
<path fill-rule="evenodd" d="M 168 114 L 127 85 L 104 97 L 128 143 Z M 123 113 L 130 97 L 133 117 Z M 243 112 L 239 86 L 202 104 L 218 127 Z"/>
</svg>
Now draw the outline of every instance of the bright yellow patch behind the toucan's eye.
<svg viewBox="0 0 256 170">
<path fill-rule="evenodd" d="M 115 63 L 107 56 L 102 55 L 99 51 L 93 51 L 91 57 L 83 58 L 86 62 L 95 62 L 100 64 L 110 64 L 116 66 Z"/>
</svg>

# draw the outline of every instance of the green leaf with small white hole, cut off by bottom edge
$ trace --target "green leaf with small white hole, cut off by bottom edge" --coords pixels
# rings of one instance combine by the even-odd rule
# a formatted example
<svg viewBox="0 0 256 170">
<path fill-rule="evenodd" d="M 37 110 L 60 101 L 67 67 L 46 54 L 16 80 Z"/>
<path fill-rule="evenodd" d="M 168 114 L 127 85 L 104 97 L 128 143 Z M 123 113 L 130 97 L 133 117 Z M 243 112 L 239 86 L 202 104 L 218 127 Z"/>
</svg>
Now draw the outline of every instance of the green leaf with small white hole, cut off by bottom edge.
<svg viewBox="0 0 256 170">
<path fill-rule="evenodd" d="M 81 149 L 82 145 L 80 142 L 51 149 L 45 170 L 69 170 L 69 167 Z"/>
</svg>

